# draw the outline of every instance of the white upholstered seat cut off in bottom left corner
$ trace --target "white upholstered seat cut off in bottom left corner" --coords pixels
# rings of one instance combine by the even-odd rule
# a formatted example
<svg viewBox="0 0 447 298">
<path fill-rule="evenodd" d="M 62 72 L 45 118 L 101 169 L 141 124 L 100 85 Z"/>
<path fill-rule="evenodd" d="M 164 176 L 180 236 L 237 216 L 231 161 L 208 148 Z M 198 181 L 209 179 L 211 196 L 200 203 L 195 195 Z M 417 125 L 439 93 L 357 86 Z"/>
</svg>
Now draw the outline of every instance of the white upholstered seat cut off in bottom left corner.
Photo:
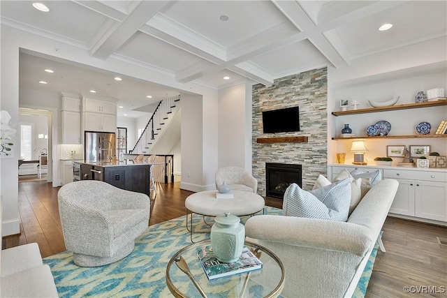
<svg viewBox="0 0 447 298">
<path fill-rule="evenodd" d="M 0 234 L 1 234 L 0 200 Z M 43 265 L 38 244 L 0 251 L 0 297 L 59 297 L 50 267 Z"/>
</svg>

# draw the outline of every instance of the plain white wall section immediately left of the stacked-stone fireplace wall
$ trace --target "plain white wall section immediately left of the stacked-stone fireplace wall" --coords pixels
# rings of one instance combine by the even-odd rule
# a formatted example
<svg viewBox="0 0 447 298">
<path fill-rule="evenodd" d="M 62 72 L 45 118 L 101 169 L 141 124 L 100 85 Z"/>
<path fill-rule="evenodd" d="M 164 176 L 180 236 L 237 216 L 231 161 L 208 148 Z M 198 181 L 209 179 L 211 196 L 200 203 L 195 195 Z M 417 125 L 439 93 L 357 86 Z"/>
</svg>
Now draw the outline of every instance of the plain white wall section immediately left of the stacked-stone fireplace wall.
<svg viewBox="0 0 447 298">
<path fill-rule="evenodd" d="M 244 167 L 251 172 L 251 85 L 219 90 L 218 110 L 218 167 Z"/>
</svg>

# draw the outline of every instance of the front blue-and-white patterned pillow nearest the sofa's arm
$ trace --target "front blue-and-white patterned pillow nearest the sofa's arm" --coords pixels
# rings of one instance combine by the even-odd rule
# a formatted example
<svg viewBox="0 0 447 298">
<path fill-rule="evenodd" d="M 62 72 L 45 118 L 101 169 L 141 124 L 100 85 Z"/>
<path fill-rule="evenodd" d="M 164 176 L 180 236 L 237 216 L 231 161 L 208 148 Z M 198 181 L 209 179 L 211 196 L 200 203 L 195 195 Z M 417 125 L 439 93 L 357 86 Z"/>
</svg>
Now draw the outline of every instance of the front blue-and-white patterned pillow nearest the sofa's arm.
<svg viewBox="0 0 447 298">
<path fill-rule="evenodd" d="M 346 221 L 352 181 L 352 178 L 344 179 L 313 191 L 291 184 L 284 193 L 283 215 Z"/>
</svg>

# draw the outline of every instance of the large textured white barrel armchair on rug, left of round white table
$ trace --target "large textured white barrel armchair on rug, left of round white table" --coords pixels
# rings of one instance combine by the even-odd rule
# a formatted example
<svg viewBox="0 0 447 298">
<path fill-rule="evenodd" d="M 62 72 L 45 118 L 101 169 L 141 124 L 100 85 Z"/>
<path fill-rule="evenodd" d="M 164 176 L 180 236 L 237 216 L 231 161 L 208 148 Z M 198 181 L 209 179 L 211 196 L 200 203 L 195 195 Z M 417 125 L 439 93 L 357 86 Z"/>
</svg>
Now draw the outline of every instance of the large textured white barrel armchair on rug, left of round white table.
<svg viewBox="0 0 447 298">
<path fill-rule="evenodd" d="M 65 246 L 82 267 L 108 265 L 133 251 L 149 225 L 149 197 L 102 181 L 75 181 L 57 193 Z"/>
</svg>

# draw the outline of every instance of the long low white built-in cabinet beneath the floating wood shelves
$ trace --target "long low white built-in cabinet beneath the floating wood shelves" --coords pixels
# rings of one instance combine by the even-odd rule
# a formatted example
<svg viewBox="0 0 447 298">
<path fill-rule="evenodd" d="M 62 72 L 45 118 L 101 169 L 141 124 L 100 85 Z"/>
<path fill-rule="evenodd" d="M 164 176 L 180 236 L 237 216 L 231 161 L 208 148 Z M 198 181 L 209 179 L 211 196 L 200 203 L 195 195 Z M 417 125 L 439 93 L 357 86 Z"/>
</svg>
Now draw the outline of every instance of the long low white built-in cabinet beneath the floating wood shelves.
<svg viewBox="0 0 447 298">
<path fill-rule="evenodd" d="M 399 188 L 390 207 L 390 215 L 447 223 L 447 170 L 445 168 L 381 167 L 371 165 L 328 165 L 328 178 L 334 179 L 344 168 L 352 172 L 379 170 L 383 179 L 396 179 Z"/>
</svg>

